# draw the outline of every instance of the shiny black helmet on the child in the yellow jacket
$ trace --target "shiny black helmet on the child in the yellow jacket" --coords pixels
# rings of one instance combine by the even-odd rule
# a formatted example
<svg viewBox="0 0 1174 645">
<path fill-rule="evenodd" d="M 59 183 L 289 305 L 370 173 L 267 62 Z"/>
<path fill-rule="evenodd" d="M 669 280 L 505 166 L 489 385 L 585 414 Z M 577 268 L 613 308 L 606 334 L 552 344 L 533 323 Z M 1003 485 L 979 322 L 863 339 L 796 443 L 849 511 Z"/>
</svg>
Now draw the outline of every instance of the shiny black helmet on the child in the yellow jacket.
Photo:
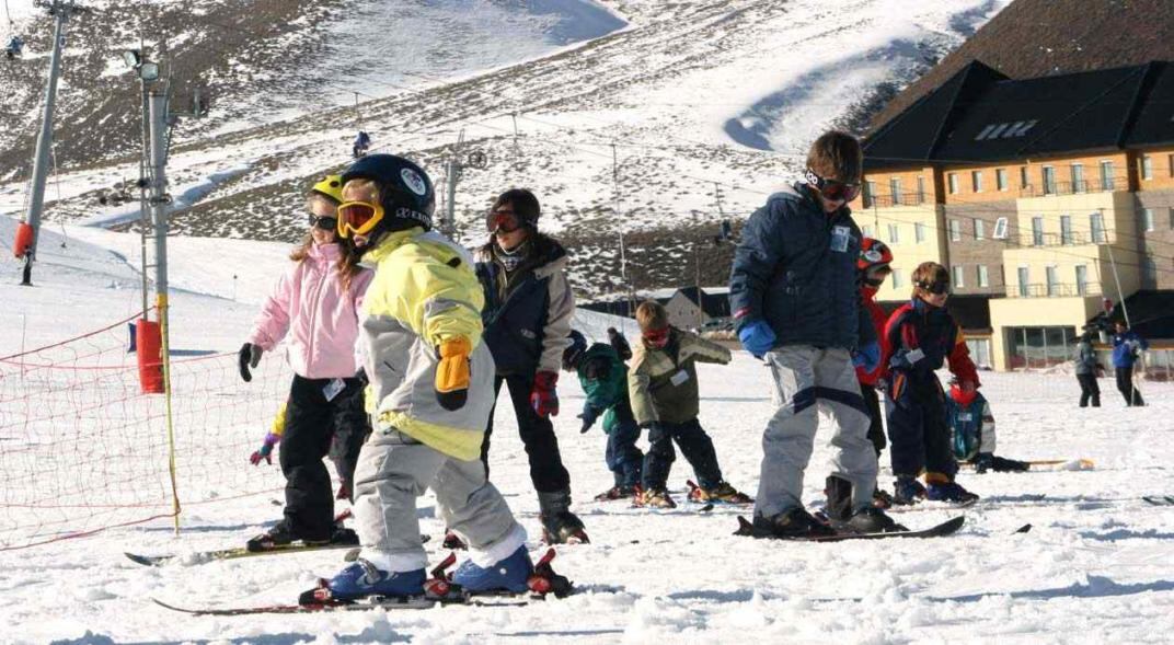
<svg viewBox="0 0 1174 645">
<path fill-rule="evenodd" d="M 372 233 L 421 226 L 432 229 L 437 195 L 432 180 L 412 161 L 389 154 L 366 155 L 343 172 L 343 186 L 355 179 L 371 180 L 379 188 L 384 220 Z"/>
</svg>

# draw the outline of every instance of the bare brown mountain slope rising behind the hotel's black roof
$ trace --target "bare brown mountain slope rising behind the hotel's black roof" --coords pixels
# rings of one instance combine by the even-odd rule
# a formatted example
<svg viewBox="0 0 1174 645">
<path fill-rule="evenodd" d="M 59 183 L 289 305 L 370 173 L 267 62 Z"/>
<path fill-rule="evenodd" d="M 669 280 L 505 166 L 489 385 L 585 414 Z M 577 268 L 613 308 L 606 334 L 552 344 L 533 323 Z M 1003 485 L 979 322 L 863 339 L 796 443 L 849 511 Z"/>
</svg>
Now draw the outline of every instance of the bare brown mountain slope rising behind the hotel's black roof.
<svg viewBox="0 0 1174 645">
<path fill-rule="evenodd" d="M 1174 2 L 1016 0 L 889 101 L 873 132 L 974 60 L 1012 79 L 1174 60 Z"/>
</svg>

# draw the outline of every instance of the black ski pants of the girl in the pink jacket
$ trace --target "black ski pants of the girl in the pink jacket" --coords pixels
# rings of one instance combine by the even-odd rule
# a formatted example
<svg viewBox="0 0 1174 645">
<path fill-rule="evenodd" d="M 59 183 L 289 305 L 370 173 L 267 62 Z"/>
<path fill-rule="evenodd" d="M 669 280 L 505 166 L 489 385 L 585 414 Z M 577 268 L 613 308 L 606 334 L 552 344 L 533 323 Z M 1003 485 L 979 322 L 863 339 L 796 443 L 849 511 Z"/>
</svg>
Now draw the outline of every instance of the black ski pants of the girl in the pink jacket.
<svg viewBox="0 0 1174 645">
<path fill-rule="evenodd" d="M 344 388 L 328 399 L 326 388 L 332 381 L 295 375 L 285 405 L 285 432 L 279 451 L 285 476 L 284 513 L 286 525 L 298 539 L 330 539 L 335 496 L 330 471 L 322 459 L 332 453 L 338 475 L 349 486 L 359 449 L 370 431 L 363 410 L 362 382 L 344 378 Z"/>
</svg>

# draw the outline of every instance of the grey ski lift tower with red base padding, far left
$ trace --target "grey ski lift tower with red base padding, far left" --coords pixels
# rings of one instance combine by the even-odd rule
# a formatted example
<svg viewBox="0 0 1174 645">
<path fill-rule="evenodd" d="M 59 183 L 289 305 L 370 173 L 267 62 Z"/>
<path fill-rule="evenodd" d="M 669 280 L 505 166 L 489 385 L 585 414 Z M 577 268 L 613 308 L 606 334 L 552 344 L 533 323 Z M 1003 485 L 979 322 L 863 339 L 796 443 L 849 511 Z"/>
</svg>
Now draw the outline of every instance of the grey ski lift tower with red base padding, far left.
<svg viewBox="0 0 1174 645">
<path fill-rule="evenodd" d="M 23 248 L 15 249 L 25 257 L 25 271 L 21 284 L 33 285 L 33 261 L 36 257 L 36 237 L 41 228 L 41 213 L 45 210 L 45 180 L 49 170 L 49 155 L 53 146 L 53 109 L 58 96 L 58 79 L 61 75 L 61 48 L 66 42 L 66 22 L 74 13 L 85 11 L 74 0 L 36 0 L 38 7 L 48 9 L 54 16 L 53 54 L 49 58 L 49 80 L 45 87 L 45 110 L 41 114 L 41 132 L 36 136 L 36 153 L 33 156 L 33 179 L 28 184 L 28 211 L 21 222 L 18 238 L 26 241 Z"/>
</svg>

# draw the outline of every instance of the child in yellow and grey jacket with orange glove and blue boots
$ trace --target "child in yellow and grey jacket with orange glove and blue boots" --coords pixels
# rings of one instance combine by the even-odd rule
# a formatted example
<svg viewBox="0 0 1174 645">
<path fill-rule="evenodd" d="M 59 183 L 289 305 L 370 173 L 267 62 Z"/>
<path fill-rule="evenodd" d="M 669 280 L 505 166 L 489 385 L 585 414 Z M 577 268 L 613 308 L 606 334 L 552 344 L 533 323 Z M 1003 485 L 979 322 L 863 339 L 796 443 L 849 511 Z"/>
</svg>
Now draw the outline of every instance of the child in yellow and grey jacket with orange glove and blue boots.
<svg viewBox="0 0 1174 645">
<path fill-rule="evenodd" d="M 416 498 L 427 489 L 473 552 L 452 582 L 470 592 L 525 591 L 534 571 L 526 531 L 478 461 L 494 365 L 473 258 L 431 230 L 436 193 L 416 163 L 367 155 L 343 182 L 339 234 L 375 267 L 359 335 L 373 431 L 355 471 L 362 551 L 321 591 L 338 600 L 424 593 Z"/>
</svg>

